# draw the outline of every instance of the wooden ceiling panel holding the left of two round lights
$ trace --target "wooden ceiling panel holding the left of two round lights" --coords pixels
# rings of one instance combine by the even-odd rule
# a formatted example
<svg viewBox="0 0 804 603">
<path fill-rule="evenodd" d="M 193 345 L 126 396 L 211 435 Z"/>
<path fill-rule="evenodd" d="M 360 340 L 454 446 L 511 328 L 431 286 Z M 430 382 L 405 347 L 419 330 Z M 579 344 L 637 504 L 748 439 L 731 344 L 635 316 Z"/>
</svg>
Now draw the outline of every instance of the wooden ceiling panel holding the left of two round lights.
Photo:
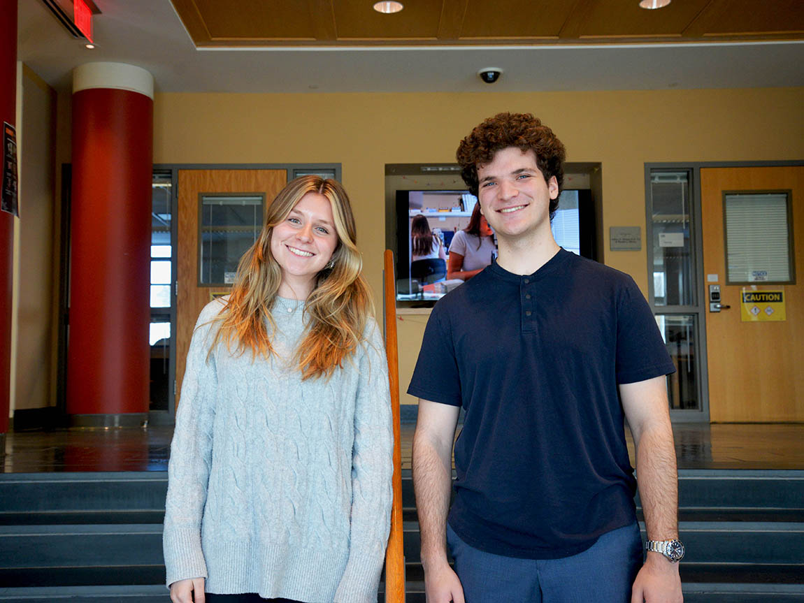
<svg viewBox="0 0 804 603">
<path fill-rule="evenodd" d="M 338 39 L 351 40 L 435 40 L 441 18 L 441 2 L 403 0 L 404 10 L 395 14 L 378 13 L 367 2 L 333 0 Z"/>
</svg>

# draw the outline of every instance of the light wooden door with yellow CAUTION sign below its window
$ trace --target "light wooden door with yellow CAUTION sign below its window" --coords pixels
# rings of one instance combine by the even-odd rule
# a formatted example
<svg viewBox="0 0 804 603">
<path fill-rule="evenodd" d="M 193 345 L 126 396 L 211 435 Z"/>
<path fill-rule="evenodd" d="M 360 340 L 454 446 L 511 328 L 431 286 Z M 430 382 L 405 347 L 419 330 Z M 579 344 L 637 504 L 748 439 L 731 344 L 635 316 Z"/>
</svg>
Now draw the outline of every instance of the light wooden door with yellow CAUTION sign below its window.
<svg viewBox="0 0 804 603">
<path fill-rule="evenodd" d="M 758 289 L 784 290 L 784 322 L 744 322 L 740 316 L 740 296 L 750 285 L 726 284 L 724 191 L 790 191 L 798 284 L 754 283 Z M 710 420 L 802 421 L 804 166 L 701 169 L 701 210 L 705 285 L 719 284 L 721 303 L 730 306 L 707 313 Z"/>
</svg>

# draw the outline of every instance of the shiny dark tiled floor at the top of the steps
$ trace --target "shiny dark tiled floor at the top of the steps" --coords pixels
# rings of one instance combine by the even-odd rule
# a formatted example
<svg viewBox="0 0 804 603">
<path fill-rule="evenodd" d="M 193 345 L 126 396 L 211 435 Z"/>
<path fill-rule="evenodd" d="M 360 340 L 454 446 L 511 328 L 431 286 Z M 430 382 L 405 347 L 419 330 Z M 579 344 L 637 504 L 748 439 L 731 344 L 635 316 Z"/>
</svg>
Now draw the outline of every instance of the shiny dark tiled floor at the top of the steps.
<svg viewBox="0 0 804 603">
<path fill-rule="evenodd" d="M 414 425 L 402 425 L 402 468 L 410 469 Z M 679 469 L 804 470 L 804 424 L 674 426 Z M 170 427 L 9 433 L 2 471 L 164 471 Z M 634 446 L 626 435 L 633 463 Z"/>
</svg>

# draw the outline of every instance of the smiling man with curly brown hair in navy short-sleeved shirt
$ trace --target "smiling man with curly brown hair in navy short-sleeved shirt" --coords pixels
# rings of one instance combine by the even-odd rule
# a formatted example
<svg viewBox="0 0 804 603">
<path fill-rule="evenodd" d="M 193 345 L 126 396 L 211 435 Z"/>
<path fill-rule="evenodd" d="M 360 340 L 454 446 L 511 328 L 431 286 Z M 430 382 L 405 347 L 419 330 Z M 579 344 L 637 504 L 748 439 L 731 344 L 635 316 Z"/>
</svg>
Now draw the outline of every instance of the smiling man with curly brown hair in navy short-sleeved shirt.
<svg viewBox="0 0 804 603">
<path fill-rule="evenodd" d="M 645 298 L 553 239 L 564 146 L 538 119 L 484 121 L 457 160 L 499 255 L 433 308 L 408 388 L 427 601 L 682 601 L 674 367 Z M 666 553 L 645 564 L 624 419 L 649 546 Z"/>
</svg>

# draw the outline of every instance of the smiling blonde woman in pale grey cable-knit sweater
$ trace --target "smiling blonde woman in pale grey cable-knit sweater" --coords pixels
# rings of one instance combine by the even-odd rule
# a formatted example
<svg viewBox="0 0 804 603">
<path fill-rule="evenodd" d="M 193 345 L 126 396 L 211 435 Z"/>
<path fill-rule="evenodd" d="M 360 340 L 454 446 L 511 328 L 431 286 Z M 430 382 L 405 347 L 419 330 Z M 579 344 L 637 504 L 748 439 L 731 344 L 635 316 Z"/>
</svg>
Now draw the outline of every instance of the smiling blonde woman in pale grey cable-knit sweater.
<svg viewBox="0 0 804 603">
<path fill-rule="evenodd" d="M 267 213 L 187 354 L 165 515 L 170 598 L 373 603 L 393 433 L 355 219 L 343 187 L 318 176 L 293 180 Z"/>
</svg>

